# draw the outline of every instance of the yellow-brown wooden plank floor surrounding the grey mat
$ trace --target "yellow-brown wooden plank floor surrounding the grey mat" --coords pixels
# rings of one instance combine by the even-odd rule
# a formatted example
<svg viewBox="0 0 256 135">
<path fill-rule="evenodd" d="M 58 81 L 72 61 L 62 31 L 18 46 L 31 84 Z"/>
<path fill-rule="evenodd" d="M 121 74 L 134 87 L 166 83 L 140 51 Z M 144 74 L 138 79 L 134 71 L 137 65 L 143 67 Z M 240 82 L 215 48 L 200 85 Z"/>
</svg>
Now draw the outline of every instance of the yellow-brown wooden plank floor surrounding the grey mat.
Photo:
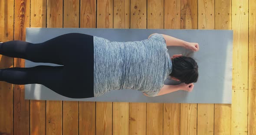
<svg viewBox="0 0 256 135">
<path fill-rule="evenodd" d="M 0 82 L 0 135 L 256 135 L 256 0 L 0 0 L 0 41 L 26 27 L 233 29 L 232 104 L 24 100 Z"/>
</svg>

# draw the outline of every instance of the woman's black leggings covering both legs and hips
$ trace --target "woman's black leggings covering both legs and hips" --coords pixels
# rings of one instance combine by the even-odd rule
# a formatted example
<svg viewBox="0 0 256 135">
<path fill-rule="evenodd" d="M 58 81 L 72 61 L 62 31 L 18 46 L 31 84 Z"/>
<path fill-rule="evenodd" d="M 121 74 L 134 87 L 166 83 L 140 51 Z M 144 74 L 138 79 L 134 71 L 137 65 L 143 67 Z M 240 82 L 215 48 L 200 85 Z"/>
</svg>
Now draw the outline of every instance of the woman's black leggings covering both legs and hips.
<svg viewBox="0 0 256 135">
<path fill-rule="evenodd" d="M 70 98 L 93 97 L 93 36 L 69 33 L 39 44 L 10 41 L 0 44 L 0 55 L 63 66 L 0 69 L 0 81 L 43 84 Z"/>
</svg>

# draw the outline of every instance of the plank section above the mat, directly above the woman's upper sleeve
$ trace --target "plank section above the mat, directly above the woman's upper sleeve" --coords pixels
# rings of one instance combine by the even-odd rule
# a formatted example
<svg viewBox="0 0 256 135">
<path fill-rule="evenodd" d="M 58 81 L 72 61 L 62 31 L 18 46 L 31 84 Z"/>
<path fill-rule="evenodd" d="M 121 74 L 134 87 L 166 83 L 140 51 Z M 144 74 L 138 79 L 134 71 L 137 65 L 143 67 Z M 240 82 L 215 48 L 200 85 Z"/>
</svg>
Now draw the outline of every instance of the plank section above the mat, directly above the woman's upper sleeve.
<svg viewBox="0 0 256 135">
<path fill-rule="evenodd" d="M 148 0 L 148 28 L 164 29 L 164 0 Z"/>
</svg>

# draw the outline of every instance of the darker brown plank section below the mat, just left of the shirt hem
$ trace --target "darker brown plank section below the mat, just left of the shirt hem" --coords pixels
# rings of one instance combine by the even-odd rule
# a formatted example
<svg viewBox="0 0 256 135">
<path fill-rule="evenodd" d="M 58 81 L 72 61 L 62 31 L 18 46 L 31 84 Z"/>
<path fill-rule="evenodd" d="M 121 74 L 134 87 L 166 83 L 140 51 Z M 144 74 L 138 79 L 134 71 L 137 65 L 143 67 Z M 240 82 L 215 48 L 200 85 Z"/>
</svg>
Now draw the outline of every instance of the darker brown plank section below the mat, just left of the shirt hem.
<svg viewBox="0 0 256 135">
<path fill-rule="evenodd" d="M 95 102 L 79 102 L 79 135 L 95 135 Z"/>
</svg>

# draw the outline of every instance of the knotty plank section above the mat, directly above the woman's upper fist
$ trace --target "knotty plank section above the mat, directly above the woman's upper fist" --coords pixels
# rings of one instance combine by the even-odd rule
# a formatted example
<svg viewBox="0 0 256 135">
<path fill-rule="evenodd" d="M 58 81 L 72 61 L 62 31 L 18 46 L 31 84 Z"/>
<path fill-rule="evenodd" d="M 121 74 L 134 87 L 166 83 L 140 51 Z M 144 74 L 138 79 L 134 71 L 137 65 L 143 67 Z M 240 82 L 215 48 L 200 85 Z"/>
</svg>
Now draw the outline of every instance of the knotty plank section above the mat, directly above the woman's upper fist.
<svg viewBox="0 0 256 135">
<path fill-rule="evenodd" d="M 181 29 L 197 29 L 197 0 L 181 0 Z"/>
</svg>

